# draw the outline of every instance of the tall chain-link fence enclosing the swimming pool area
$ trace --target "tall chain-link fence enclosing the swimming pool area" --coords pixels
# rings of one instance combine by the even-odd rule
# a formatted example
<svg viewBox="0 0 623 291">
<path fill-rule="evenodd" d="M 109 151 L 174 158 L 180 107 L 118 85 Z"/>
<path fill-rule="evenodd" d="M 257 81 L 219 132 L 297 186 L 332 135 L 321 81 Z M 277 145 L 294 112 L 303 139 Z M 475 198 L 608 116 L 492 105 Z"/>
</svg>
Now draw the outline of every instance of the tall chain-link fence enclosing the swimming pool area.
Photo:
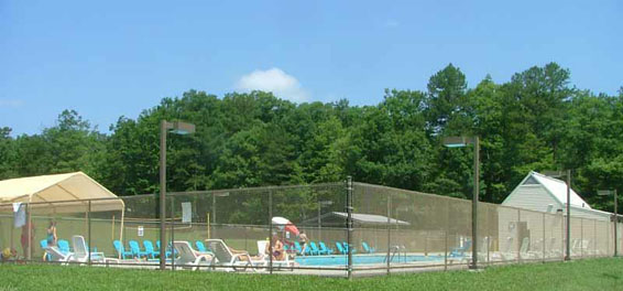
<svg viewBox="0 0 623 291">
<path fill-rule="evenodd" d="M 165 205 L 163 244 L 157 195 L 0 205 L 2 259 L 157 269 L 163 248 L 166 269 L 347 277 L 467 268 L 474 241 L 479 267 L 566 254 L 562 212 L 479 203 L 474 240 L 471 201 L 365 183 L 168 193 Z M 571 258 L 613 256 L 614 227 L 571 217 Z"/>
</svg>

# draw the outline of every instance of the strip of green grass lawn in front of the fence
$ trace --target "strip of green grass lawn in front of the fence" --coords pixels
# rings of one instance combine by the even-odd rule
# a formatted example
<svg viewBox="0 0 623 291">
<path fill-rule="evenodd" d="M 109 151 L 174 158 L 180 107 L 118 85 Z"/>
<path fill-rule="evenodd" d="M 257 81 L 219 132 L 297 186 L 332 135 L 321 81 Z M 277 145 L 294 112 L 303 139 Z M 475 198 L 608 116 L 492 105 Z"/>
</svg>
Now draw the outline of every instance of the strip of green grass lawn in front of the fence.
<svg viewBox="0 0 623 291">
<path fill-rule="evenodd" d="M 0 266 L 0 290 L 623 290 L 623 259 L 588 259 L 352 281 L 304 276 Z"/>
</svg>

